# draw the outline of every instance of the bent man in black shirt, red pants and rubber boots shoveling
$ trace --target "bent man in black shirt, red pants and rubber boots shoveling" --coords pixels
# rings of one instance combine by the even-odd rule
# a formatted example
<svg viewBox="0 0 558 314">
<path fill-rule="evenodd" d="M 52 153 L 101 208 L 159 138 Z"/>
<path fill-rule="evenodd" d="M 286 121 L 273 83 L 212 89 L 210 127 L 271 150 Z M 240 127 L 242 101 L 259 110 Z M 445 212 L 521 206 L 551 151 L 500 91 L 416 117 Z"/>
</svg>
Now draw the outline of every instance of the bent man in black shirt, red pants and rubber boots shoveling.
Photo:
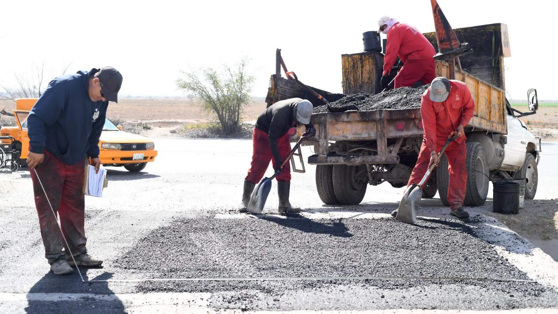
<svg viewBox="0 0 558 314">
<path fill-rule="evenodd" d="M 289 98 L 272 104 L 259 115 L 252 134 L 252 164 L 248 170 L 248 175 L 244 179 L 240 212 L 247 212 L 248 202 L 254 187 L 262 179 L 270 161 L 273 161 L 273 169 L 278 170 L 281 168 L 283 160 L 291 152 L 288 131 L 300 123 L 306 125 L 306 132 L 309 132 L 309 137 L 316 134 L 314 126 L 310 123 L 313 109 L 312 103 L 306 99 Z M 289 163 L 285 164 L 276 179 L 279 212 L 300 212 L 300 208 L 292 207 L 288 201 L 291 188 L 291 166 Z"/>
</svg>

